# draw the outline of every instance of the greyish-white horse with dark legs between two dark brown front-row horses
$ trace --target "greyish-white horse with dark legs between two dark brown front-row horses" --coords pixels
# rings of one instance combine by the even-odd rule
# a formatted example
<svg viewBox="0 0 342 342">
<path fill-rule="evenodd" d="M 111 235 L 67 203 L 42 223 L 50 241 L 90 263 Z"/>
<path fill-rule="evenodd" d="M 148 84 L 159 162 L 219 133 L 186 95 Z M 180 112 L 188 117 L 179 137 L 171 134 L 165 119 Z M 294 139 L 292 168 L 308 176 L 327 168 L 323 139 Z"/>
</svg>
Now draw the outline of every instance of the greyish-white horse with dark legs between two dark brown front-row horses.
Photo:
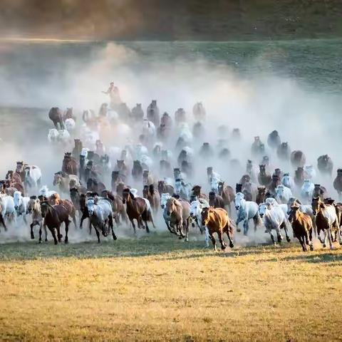
<svg viewBox="0 0 342 342">
<path fill-rule="evenodd" d="M 90 197 L 87 200 L 87 208 L 90 222 L 95 227 L 98 242 L 100 243 L 100 230 L 104 237 L 108 236 L 107 224 L 112 230 L 113 239 L 116 240 L 117 237 L 113 229 L 113 210 L 110 202 L 107 199 L 99 197 L 95 203 L 95 199 Z"/>
</svg>

